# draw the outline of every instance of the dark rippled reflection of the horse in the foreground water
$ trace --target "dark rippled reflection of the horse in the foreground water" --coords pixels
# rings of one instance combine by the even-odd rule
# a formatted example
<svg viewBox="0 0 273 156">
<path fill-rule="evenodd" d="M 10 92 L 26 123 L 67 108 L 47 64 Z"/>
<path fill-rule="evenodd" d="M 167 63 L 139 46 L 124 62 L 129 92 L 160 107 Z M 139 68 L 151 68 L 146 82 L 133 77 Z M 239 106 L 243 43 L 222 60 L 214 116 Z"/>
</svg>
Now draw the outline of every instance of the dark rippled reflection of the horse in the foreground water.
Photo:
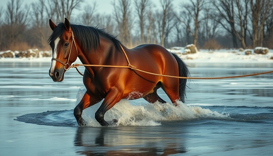
<svg viewBox="0 0 273 156">
<path fill-rule="evenodd" d="M 158 126 L 79 127 L 74 144 L 84 155 L 169 155 L 185 153 L 182 138 L 159 132 Z M 161 127 L 162 128 L 162 127 Z M 167 137 L 166 137 L 167 136 Z"/>
</svg>

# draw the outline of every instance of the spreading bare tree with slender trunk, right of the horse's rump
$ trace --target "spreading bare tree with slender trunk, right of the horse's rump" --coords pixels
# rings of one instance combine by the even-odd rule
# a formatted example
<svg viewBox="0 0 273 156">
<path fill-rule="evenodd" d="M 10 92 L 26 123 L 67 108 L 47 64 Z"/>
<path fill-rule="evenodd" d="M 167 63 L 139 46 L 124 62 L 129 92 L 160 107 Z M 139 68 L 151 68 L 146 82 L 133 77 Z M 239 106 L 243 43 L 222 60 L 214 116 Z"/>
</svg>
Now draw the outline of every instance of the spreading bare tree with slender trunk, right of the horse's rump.
<svg viewBox="0 0 273 156">
<path fill-rule="evenodd" d="M 181 3 L 180 4 L 181 8 L 186 10 L 186 12 L 184 12 L 185 13 L 184 18 L 185 18 L 185 16 L 190 16 L 193 19 L 194 29 L 192 30 L 190 23 L 186 23 L 184 20 L 179 18 L 180 22 L 185 24 L 187 29 L 190 31 L 190 34 L 193 36 L 193 44 L 194 45 L 197 45 L 199 24 L 202 20 L 207 18 L 206 16 L 203 16 L 203 17 L 200 16 L 201 12 L 205 8 L 205 5 L 206 5 L 205 0 L 195 0 L 195 1 L 190 0 L 190 3 L 186 3 L 186 4 Z"/>
</svg>

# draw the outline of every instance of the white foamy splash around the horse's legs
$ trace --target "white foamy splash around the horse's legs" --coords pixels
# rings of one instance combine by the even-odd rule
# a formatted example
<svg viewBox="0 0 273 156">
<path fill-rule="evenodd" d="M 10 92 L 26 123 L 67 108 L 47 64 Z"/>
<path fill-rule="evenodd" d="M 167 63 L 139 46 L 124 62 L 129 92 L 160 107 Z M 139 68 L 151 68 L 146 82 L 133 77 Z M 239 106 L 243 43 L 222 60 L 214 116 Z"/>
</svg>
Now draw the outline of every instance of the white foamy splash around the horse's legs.
<svg viewBox="0 0 273 156">
<path fill-rule="evenodd" d="M 77 101 L 80 101 L 85 93 L 80 88 L 77 94 Z M 83 118 L 88 126 L 98 127 L 100 124 L 94 118 L 102 102 L 83 110 Z M 77 104 L 77 102 L 76 102 Z M 200 106 L 190 106 L 179 102 L 178 106 L 170 103 L 154 104 L 145 103 L 132 105 L 130 100 L 122 99 L 105 113 L 105 120 L 117 119 L 116 126 L 159 126 L 164 121 L 188 121 L 195 119 L 230 119 L 227 113 L 212 112 Z"/>
</svg>

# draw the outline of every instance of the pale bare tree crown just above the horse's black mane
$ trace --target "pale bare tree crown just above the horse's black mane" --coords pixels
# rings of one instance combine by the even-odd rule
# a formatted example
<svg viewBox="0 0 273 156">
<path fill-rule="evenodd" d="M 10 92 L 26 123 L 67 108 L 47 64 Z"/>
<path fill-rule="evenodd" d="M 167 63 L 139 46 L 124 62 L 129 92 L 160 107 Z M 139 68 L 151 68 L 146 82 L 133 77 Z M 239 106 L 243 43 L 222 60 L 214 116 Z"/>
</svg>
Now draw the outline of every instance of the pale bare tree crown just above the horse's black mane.
<svg viewBox="0 0 273 156">
<path fill-rule="evenodd" d="M 81 23 L 86 26 L 94 25 L 94 14 L 97 11 L 97 2 L 94 1 L 92 5 L 86 5 L 83 9 L 83 13 L 80 15 Z"/>
</svg>

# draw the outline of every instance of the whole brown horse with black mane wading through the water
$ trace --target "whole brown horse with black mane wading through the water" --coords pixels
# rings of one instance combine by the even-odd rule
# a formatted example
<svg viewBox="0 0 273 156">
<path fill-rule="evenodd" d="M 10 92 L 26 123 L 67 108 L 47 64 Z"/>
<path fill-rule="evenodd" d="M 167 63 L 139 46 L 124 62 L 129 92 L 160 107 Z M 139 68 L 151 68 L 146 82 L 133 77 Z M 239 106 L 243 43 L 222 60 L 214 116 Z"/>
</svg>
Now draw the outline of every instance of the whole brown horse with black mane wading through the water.
<svg viewBox="0 0 273 156">
<path fill-rule="evenodd" d="M 48 39 L 53 52 L 49 75 L 55 82 L 64 79 L 66 69 L 77 57 L 83 64 L 127 66 L 121 46 L 130 63 L 138 69 L 163 75 L 189 76 L 186 64 L 176 54 L 159 45 L 143 44 L 128 49 L 114 36 L 96 27 L 70 24 L 67 19 L 58 26 L 49 19 L 49 25 L 53 30 Z M 83 109 L 104 99 L 95 113 L 95 119 L 101 126 L 109 126 L 104 114 L 121 99 L 144 98 L 150 103 L 165 103 L 157 94 L 160 87 L 177 105 L 177 101 L 184 102 L 186 81 L 129 68 L 85 66 L 83 84 L 87 91 L 75 107 L 74 116 L 79 126 L 85 126 L 86 122 L 81 116 Z"/>
</svg>

